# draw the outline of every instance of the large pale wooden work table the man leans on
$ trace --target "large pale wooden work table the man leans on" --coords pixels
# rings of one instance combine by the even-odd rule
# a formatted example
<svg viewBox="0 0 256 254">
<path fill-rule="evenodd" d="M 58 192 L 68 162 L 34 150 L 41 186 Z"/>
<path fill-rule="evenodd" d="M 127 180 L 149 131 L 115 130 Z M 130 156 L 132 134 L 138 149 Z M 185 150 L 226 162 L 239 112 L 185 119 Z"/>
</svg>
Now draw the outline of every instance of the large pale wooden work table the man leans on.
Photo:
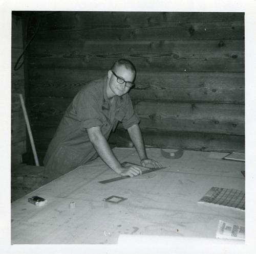
<svg viewBox="0 0 256 254">
<path fill-rule="evenodd" d="M 139 164 L 133 148 L 113 151 Z M 244 211 L 197 202 L 211 187 L 244 191 L 244 163 L 221 159 L 226 153 L 184 151 L 167 159 L 148 148 L 147 154 L 167 168 L 101 184 L 118 175 L 97 158 L 13 202 L 12 244 L 116 244 L 120 234 L 215 238 L 219 220 L 244 225 Z M 48 204 L 29 203 L 35 195 Z M 103 201 L 112 195 L 127 199 Z"/>
</svg>

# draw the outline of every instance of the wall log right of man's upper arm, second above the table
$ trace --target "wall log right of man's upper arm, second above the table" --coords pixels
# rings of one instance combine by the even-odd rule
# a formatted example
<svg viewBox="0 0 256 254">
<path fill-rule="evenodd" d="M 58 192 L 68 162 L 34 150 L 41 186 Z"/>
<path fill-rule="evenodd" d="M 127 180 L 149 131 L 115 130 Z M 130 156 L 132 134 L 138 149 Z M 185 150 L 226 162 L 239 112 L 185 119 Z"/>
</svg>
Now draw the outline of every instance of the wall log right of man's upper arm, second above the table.
<svg viewBox="0 0 256 254">
<path fill-rule="evenodd" d="M 139 102 L 142 130 L 244 135 L 244 105 Z"/>
</svg>

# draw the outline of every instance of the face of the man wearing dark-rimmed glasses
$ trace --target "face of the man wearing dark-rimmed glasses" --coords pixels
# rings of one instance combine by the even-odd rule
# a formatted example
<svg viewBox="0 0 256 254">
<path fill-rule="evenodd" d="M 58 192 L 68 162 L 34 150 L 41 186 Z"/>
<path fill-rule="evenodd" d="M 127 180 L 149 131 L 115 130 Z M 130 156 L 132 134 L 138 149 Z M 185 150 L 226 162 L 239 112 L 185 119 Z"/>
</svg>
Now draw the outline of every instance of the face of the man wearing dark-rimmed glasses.
<svg viewBox="0 0 256 254">
<path fill-rule="evenodd" d="M 119 78 L 121 78 L 122 80 L 127 81 L 127 82 L 133 82 L 134 78 L 135 78 L 135 74 L 132 71 L 127 70 L 125 68 L 125 66 L 123 66 L 123 65 L 118 66 L 116 68 L 116 70 L 114 71 L 114 73 L 116 74 L 116 76 L 118 76 Z M 117 77 L 115 76 L 114 73 L 112 73 L 111 71 L 109 72 L 109 78 L 110 78 L 109 95 L 123 96 L 126 93 L 128 93 L 131 88 L 127 87 L 125 85 L 125 82 L 123 84 L 119 84 L 117 82 Z"/>
</svg>

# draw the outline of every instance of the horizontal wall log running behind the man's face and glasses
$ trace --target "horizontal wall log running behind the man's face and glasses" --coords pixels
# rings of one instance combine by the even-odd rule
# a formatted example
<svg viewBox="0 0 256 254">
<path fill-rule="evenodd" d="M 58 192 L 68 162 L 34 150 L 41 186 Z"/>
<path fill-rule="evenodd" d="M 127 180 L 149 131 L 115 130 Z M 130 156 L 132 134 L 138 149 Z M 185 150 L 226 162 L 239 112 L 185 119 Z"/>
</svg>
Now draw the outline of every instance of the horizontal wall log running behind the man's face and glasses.
<svg viewBox="0 0 256 254">
<path fill-rule="evenodd" d="M 106 71 L 32 69 L 29 93 L 32 97 L 73 98 L 86 83 Z M 244 73 L 138 72 L 132 100 L 169 102 L 244 103 Z"/>
</svg>

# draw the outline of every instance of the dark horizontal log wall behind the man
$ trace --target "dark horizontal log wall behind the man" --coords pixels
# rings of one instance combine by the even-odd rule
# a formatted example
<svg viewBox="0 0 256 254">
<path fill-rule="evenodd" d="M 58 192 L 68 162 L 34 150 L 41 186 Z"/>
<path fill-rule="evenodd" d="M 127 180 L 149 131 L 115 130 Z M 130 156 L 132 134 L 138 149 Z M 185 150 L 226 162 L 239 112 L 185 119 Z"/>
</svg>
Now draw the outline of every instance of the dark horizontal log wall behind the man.
<svg viewBox="0 0 256 254">
<path fill-rule="evenodd" d="M 68 104 L 119 58 L 137 68 L 130 91 L 146 145 L 244 151 L 244 13 L 36 12 L 28 95 L 42 159 Z M 119 126 L 110 142 L 129 144 Z"/>
</svg>

